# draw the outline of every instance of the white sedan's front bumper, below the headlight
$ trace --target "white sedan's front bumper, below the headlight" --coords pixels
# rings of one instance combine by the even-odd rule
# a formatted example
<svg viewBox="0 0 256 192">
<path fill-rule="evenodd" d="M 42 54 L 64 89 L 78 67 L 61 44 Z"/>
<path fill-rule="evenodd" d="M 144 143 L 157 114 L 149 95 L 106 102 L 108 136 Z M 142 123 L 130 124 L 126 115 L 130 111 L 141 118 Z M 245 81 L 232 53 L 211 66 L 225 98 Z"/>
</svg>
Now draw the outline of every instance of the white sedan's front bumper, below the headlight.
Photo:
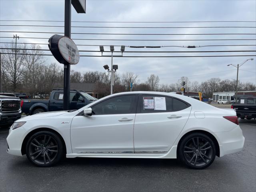
<svg viewBox="0 0 256 192">
<path fill-rule="evenodd" d="M 14 130 L 10 128 L 9 134 L 6 138 L 8 144 L 7 152 L 9 154 L 22 156 L 21 147 L 25 132 L 26 130 L 22 126 Z"/>
</svg>

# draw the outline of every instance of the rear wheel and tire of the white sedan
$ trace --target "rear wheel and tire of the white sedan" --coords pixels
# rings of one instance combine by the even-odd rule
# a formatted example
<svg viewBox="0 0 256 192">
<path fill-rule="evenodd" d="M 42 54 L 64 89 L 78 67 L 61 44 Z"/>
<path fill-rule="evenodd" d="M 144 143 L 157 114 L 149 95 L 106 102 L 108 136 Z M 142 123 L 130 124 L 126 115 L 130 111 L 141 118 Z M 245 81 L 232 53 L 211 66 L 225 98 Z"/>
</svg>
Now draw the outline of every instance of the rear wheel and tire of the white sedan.
<svg viewBox="0 0 256 192">
<path fill-rule="evenodd" d="M 215 159 L 215 144 L 206 134 L 192 133 L 180 141 L 178 156 L 186 166 L 204 169 L 210 166 Z"/>
</svg>

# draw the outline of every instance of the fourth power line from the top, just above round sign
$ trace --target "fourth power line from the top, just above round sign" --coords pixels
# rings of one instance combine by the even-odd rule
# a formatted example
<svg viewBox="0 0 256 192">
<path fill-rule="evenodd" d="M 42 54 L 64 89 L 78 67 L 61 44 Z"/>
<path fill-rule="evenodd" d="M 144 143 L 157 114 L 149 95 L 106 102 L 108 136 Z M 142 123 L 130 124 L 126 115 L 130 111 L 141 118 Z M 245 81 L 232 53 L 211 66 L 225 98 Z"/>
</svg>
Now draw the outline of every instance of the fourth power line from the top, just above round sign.
<svg viewBox="0 0 256 192">
<path fill-rule="evenodd" d="M 13 38 L 13 37 L 0 37 Z M 49 39 L 44 37 L 20 37 L 24 39 Z M 242 40 L 256 40 L 256 39 L 81 39 L 72 38 L 72 40 L 95 40 L 95 41 L 242 41 Z"/>
</svg>

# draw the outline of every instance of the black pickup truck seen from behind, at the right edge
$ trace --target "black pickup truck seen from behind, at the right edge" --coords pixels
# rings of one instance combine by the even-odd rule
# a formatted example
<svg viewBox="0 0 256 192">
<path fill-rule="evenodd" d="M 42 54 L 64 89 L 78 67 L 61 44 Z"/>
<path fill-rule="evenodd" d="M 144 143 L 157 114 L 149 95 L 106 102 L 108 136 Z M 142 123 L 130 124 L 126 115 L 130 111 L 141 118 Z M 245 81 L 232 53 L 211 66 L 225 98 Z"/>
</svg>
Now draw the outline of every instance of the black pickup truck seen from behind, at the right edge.
<svg viewBox="0 0 256 192">
<path fill-rule="evenodd" d="M 238 104 L 231 105 L 241 119 L 256 119 L 256 97 L 240 97 Z"/>
</svg>

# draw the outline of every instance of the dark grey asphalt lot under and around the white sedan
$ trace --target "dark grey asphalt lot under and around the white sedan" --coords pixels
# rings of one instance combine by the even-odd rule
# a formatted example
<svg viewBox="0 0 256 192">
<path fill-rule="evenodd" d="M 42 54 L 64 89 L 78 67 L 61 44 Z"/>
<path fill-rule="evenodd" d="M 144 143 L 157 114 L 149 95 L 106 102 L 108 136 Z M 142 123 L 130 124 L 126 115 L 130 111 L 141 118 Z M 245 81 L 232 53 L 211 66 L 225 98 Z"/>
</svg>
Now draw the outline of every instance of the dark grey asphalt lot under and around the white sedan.
<svg viewBox="0 0 256 192">
<path fill-rule="evenodd" d="M 256 191 L 256 120 L 239 120 L 242 152 L 216 157 L 205 170 L 170 159 L 65 159 L 50 168 L 7 154 L 0 129 L 0 191 Z"/>
</svg>

